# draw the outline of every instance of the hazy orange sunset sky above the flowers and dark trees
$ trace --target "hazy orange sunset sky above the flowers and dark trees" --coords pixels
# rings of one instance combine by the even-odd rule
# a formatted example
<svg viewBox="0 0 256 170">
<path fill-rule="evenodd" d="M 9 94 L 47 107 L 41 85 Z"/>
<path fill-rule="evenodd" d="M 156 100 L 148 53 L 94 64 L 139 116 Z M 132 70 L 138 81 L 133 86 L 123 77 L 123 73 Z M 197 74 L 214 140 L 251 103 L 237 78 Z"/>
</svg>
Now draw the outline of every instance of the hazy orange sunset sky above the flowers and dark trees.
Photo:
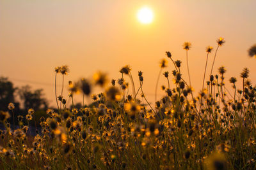
<svg viewBox="0 0 256 170">
<path fill-rule="evenodd" d="M 151 24 L 138 22 L 136 14 L 143 6 L 154 13 Z M 166 51 L 182 61 L 182 75 L 188 81 L 182 45 L 191 42 L 189 71 L 197 93 L 202 88 L 205 47 L 216 50 L 216 39 L 221 36 L 226 43 L 218 50 L 213 73 L 225 66 L 227 87 L 231 87 L 228 79 L 235 76 L 241 88 L 239 74 L 244 67 L 250 69 L 253 84 L 256 81 L 256 59 L 248 57 L 248 48 L 256 43 L 255 6 L 253 0 L 1 0 L 0 76 L 8 77 L 15 87 L 28 84 L 44 89 L 50 106 L 56 106 L 54 67 L 67 64 L 70 68 L 64 89 L 68 98 L 68 80 L 92 78 L 96 71 L 108 73 L 109 80 L 118 79 L 118 71 L 128 64 L 136 89 L 138 71 L 143 71 L 145 96 L 153 103 L 159 61 L 167 59 Z M 206 80 L 213 57 L 214 53 L 209 55 Z M 163 71 L 172 72 L 174 66 L 168 61 Z M 58 76 L 58 94 L 60 85 Z M 164 76 L 161 85 L 167 85 Z M 157 98 L 162 94 L 159 88 Z M 79 102 L 81 96 L 74 98 Z"/>
</svg>

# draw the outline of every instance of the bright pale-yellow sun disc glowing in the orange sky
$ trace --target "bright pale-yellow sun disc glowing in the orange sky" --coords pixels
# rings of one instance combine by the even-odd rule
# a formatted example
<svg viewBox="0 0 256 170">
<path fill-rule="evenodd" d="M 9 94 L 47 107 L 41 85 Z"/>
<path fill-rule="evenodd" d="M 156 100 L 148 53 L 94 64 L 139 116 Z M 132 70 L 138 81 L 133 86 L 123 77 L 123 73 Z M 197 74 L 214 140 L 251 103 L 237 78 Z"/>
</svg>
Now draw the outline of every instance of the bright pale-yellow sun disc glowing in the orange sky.
<svg viewBox="0 0 256 170">
<path fill-rule="evenodd" d="M 153 11 L 145 6 L 138 11 L 137 17 L 142 24 L 150 24 L 153 21 L 154 15 Z"/>
</svg>

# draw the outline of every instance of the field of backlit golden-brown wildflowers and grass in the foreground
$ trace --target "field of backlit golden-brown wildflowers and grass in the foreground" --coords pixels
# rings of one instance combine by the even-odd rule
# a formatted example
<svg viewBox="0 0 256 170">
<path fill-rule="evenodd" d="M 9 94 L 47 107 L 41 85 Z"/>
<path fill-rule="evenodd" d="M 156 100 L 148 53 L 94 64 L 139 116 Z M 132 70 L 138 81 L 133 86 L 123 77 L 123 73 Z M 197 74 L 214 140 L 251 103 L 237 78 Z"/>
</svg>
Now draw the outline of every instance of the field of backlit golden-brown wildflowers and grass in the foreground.
<svg viewBox="0 0 256 170">
<path fill-rule="evenodd" d="M 224 43 L 223 38 L 217 40 L 214 60 Z M 190 49 L 191 43 L 184 43 L 187 67 Z M 207 59 L 211 52 L 208 46 Z M 255 56 L 255 47 L 249 53 Z M 80 91 L 83 98 L 92 96 L 93 103 L 76 108 L 72 102 L 68 109 L 62 92 L 56 94 L 58 109 L 49 109 L 48 117 L 40 118 L 41 131 L 36 136 L 29 136 L 30 127 L 24 125 L 31 122 L 33 108 L 28 108 L 26 117 L 17 116 L 19 129 L 10 129 L 10 113 L 17 114 L 10 103 L 10 113 L 0 112 L 5 126 L 0 131 L 1 169 L 255 169 L 256 87 L 248 79 L 249 70 L 241 72 L 241 90 L 237 78 L 230 78 L 233 94 L 225 88 L 225 67 L 209 75 L 206 85 L 204 74 L 202 90 L 195 96 L 190 78 L 189 83 L 182 78 L 181 61 L 170 52 L 166 55 L 173 63 L 174 83 L 170 84 L 169 72 L 164 72 L 168 87 L 162 87 L 165 95 L 155 106 L 143 92 L 143 73 L 138 73 L 140 87 L 135 89 L 129 66 L 120 69 L 120 79 L 111 85 L 100 72 L 93 75 L 93 82 L 86 78 L 69 81 L 72 101 Z M 161 60 L 161 71 L 166 63 Z M 214 63 L 211 72 L 213 67 Z M 64 81 L 69 70 L 62 66 L 55 71 L 55 78 L 61 74 Z M 92 95 L 96 85 L 105 90 Z"/>
</svg>

